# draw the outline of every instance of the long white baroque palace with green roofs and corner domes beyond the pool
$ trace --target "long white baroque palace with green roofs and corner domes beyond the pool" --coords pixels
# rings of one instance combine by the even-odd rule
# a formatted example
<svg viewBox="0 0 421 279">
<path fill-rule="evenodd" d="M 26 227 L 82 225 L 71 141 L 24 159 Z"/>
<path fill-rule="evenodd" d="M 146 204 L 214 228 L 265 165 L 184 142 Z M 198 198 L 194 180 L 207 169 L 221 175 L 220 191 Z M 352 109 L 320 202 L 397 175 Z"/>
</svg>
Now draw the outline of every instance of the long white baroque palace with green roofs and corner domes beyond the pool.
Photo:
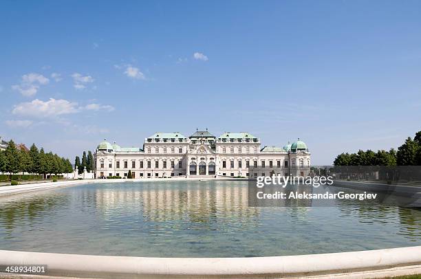
<svg viewBox="0 0 421 279">
<path fill-rule="evenodd" d="M 250 133 L 224 133 L 219 137 L 196 131 L 155 133 L 140 147 L 120 147 L 101 142 L 94 154 L 95 175 L 133 178 L 157 177 L 257 177 L 307 175 L 310 152 L 301 140 L 283 148 L 264 146 Z"/>
</svg>

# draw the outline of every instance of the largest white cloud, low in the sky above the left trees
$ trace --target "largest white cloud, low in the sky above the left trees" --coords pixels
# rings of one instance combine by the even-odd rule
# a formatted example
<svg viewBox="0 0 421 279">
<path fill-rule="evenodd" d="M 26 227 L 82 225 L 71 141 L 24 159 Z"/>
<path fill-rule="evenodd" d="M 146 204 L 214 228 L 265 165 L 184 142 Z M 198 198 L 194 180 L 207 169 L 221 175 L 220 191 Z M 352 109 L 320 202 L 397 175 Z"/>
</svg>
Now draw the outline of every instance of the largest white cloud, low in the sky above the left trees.
<svg viewBox="0 0 421 279">
<path fill-rule="evenodd" d="M 14 115 L 32 116 L 35 118 L 49 118 L 58 115 L 77 113 L 78 103 L 69 102 L 67 100 L 50 100 L 42 101 L 35 99 L 32 102 L 21 102 L 12 110 Z"/>
</svg>

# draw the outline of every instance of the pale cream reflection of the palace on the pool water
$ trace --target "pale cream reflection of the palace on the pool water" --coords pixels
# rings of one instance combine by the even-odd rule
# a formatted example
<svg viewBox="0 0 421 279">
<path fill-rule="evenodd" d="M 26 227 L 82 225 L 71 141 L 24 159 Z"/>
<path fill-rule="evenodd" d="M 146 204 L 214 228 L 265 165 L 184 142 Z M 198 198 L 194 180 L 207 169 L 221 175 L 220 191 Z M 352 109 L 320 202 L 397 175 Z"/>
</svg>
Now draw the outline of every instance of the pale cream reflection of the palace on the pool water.
<svg viewBox="0 0 421 279">
<path fill-rule="evenodd" d="M 98 188 L 95 195 L 96 205 L 105 216 L 140 214 L 149 221 L 250 220 L 260 211 L 248 207 L 246 186 L 221 186 L 206 181 L 187 183 L 182 188 L 169 183 L 143 183 L 124 190 Z"/>
</svg>

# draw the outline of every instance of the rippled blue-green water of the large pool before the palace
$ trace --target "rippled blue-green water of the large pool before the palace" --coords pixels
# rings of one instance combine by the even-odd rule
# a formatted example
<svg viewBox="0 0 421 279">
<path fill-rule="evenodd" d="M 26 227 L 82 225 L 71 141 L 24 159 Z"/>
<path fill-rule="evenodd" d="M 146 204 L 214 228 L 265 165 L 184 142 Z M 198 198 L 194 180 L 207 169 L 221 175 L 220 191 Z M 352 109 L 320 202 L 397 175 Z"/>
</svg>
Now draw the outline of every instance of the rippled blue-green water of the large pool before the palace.
<svg viewBox="0 0 421 279">
<path fill-rule="evenodd" d="M 245 181 L 96 183 L 0 199 L 0 249 L 249 257 L 421 245 L 421 211 L 363 202 L 251 208 Z"/>
</svg>

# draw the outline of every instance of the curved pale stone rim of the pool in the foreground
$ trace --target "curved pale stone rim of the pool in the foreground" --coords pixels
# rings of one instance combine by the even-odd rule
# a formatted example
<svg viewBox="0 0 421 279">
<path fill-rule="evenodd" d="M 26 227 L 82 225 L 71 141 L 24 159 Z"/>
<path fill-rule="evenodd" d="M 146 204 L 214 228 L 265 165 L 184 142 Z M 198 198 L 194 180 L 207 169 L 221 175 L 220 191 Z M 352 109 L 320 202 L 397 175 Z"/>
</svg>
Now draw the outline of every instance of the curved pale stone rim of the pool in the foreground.
<svg viewBox="0 0 421 279">
<path fill-rule="evenodd" d="M 0 250 L 0 265 L 47 265 L 78 278 L 384 278 L 421 274 L 421 246 L 258 258 L 143 258 Z"/>
</svg>

